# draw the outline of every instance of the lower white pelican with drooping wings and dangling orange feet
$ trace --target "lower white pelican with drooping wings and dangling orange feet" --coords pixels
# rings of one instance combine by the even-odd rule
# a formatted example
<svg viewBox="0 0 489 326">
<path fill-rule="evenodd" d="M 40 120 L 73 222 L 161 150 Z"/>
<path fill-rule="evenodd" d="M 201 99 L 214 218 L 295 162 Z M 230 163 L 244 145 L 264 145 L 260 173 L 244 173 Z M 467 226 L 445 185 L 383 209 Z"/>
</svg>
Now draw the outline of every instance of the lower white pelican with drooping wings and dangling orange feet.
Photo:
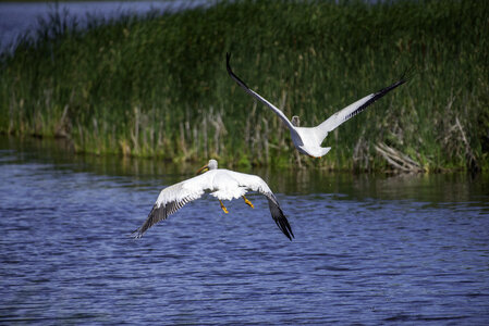
<svg viewBox="0 0 489 326">
<path fill-rule="evenodd" d="M 219 200 L 221 209 L 227 214 L 228 210 L 222 203 L 222 200 L 232 200 L 242 197 L 245 203 L 253 209 L 252 202 L 245 197 L 246 191 L 252 190 L 258 191 L 267 197 L 271 217 L 280 230 L 292 240 L 294 234 L 292 233 L 289 221 L 283 215 L 282 209 L 280 209 L 273 192 L 271 192 L 268 185 L 259 176 L 218 168 L 218 161 L 216 160 L 210 160 L 207 165 L 204 165 L 197 171 L 197 174 L 205 171 L 207 172 L 161 190 L 145 223 L 133 233 L 134 237 L 140 238 L 152 225 L 161 220 L 167 220 L 168 215 L 173 214 L 187 202 L 200 198 L 205 191 L 210 191 L 210 195 Z"/>
</svg>

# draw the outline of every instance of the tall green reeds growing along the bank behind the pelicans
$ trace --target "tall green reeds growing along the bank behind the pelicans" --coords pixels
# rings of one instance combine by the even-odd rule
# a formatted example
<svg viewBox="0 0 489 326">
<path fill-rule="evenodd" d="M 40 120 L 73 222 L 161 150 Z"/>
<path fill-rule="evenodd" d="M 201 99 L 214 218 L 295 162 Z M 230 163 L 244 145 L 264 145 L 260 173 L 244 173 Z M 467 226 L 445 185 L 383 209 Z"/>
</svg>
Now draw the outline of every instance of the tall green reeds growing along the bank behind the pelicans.
<svg viewBox="0 0 489 326">
<path fill-rule="evenodd" d="M 76 151 L 217 158 L 229 166 L 388 170 L 383 142 L 428 171 L 489 166 L 487 1 L 236 1 L 81 30 L 53 13 L 3 54 L 0 133 L 68 137 Z M 225 72 L 313 126 L 396 80 L 325 140 L 321 160 Z"/>
</svg>

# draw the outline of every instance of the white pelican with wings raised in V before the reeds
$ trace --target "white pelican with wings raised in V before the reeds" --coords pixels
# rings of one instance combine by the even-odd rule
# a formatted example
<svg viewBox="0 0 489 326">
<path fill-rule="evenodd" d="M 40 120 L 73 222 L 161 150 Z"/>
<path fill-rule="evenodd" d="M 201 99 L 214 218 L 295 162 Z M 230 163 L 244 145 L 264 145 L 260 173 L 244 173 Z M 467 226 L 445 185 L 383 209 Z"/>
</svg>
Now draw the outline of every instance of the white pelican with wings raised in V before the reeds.
<svg viewBox="0 0 489 326">
<path fill-rule="evenodd" d="M 229 64 L 230 58 L 231 54 L 227 53 L 225 66 L 228 68 L 228 73 L 231 76 L 231 78 L 233 78 L 237 83 L 237 85 L 240 85 L 247 93 L 255 97 L 256 99 L 265 103 L 268 108 L 270 108 L 283 121 L 285 126 L 289 127 L 291 131 L 292 141 L 294 142 L 295 148 L 297 148 L 299 152 L 313 158 L 321 158 L 326 155 L 331 149 L 330 147 L 321 147 L 321 143 L 325 140 L 326 136 L 328 136 L 329 131 L 334 130 L 339 125 L 341 125 L 352 116 L 355 116 L 356 114 L 364 111 L 368 105 L 370 105 L 371 103 L 383 97 L 390 90 L 407 82 L 407 79 L 405 79 L 403 76 L 399 82 L 395 82 L 391 86 L 388 86 L 377 92 L 368 95 L 365 98 L 359 99 L 355 103 L 350 104 L 349 106 L 338 111 L 329 118 L 327 118 L 325 122 L 322 122 L 320 125 L 316 127 L 306 128 L 299 127 L 298 116 L 294 115 L 292 117 L 292 122 L 289 121 L 289 118 L 285 116 L 285 114 L 283 114 L 282 111 L 280 111 L 277 106 L 274 106 L 266 99 L 264 99 L 253 89 L 247 87 L 246 84 L 243 80 L 241 80 L 240 77 L 237 77 L 231 70 L 231 66 Z"/>
</svg>

